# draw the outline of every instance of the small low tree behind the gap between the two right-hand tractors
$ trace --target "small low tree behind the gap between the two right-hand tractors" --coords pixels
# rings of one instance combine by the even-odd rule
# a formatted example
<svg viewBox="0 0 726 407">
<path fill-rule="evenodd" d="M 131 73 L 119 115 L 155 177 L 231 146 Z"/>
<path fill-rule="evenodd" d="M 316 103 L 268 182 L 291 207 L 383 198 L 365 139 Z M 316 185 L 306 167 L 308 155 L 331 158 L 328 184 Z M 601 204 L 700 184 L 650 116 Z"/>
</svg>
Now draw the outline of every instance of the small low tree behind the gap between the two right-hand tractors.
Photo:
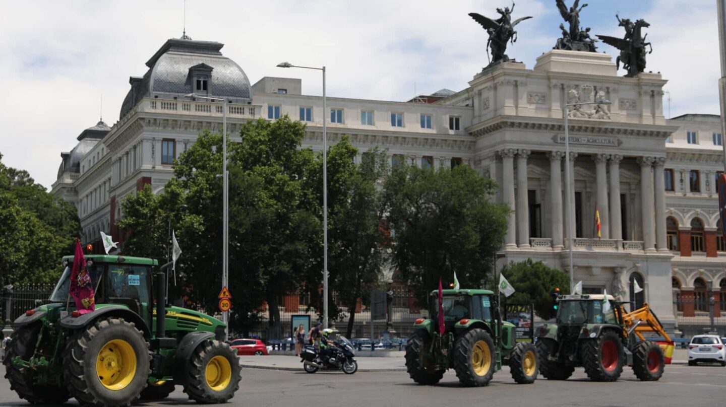
<svg viewBox="0 0 726 407">
<path fill-rule="evenodd" d="M 534 304 L 534 312 L 539 318 L 551 319 L 557 314 L 554 305 L 555 288 L 567 293 L 570 278 L 542 261 L 527 259 L 521 263 L 510 263 L 502 268 L 502 274 L 512 284 L 516 292 L 507 301 L 510 303 Z"/>
</svg>

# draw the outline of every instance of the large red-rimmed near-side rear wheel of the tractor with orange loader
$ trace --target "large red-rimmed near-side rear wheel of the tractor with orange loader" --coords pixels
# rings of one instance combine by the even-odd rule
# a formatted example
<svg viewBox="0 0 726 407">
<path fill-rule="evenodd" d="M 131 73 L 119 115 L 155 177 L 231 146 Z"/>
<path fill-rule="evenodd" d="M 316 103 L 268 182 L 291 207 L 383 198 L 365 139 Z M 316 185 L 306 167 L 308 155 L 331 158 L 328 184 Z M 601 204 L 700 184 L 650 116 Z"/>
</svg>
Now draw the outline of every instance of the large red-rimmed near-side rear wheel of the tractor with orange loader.
<svg viewBox="0 0 726 407">
<path fill-rule="evenodd" d="M 600 337 L 584 342 L 582 365 L 590 380 L 614 382 L 623 372 L 624 356 L 623 343 L 618 334 L 605 331 Z"/>
</svg>

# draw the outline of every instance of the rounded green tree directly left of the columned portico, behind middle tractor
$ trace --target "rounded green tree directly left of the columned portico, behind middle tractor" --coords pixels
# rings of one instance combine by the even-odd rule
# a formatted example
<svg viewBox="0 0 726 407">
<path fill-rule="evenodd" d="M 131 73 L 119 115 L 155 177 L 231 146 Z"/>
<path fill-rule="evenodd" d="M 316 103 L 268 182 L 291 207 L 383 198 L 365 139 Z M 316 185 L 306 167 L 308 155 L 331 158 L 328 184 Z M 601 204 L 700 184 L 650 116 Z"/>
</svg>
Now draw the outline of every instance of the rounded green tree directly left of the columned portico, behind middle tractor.
<svg viewBox="0 0 726 407">
<path fill-rule="evenodd" d="M 468 165 L 394 168 L 384 184 L 394 234 L 393 266 L 425 302 L 439 278 L 481 287 L 507 231 L 509 210 L 492 202 L 496 184 Z"/>
</svg>

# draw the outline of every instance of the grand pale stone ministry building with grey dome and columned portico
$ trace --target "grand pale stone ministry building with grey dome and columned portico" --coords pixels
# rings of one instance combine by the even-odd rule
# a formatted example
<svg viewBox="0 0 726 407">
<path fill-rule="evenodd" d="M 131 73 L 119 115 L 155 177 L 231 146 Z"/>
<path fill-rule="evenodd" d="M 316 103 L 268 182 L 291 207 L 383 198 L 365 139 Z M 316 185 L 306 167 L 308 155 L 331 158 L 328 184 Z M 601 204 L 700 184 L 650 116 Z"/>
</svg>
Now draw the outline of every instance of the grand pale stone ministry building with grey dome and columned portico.
<svg viewBox="0 0 726 407">
<path fill-rule="evenodd" d="M 250 84 L 222 46 L 166 41 L 147 72 L 129 78 L 118 121 L 82 131 L 76 147 L 61 153 L 52 191 L 78 207 L 84 242 L 97 242 L 100 231 L 119 237 L 123 197 L 147 184 L 163 189 L 174 159 L 200 131 L 221 131 L 223 105 L 185 96 L 194 92 L 227 99 L 232 139 L 248 120 L 290 115 L 307 124 L 303 147 L 322 148 L 325 119 L 330 144 L 348 136 L 361 154 L 379 147 L 391 163 L 470 165 L 497 181 L 497 201 L 513 210 L 499 267 L 532 258 L 568 271 L 571 244 L 585 292 L 607 289 L 650 303 L 670 327 L 678 321 L 695 329 L 710 308 L 726 320 L 726 243 L 715 189 L 723 168 L 719 118 L 666 120 L 660 74 L 624 78 L 607 54 L 553 50 L 534 67 L 507 62 L 476 73 L 460 91 L 407 102 L 333 95 L 324 112 L 322 98 L 304 95 L 299 79 Z M 566 157 L 563 104 L 599 99 L 612 104 L 568 112 Z M 569 198 L 565 165 L 574 173 Z M 571 242 L 568 222 L 576 232 Z M 643 292 L 634 292 L 633 281 Z"/>
</svg>

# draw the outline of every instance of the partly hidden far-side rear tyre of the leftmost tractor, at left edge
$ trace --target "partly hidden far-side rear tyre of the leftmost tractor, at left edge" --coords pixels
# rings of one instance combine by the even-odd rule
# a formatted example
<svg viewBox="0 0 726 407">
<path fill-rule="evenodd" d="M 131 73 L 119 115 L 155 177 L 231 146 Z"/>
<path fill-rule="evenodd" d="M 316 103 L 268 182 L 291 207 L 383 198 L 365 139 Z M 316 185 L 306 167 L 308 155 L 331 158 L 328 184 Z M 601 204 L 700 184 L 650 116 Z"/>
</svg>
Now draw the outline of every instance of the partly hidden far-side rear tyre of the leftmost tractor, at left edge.
<svg viewBox="0 0 726 407">
<path fill-rule="evenodd" d="M 37 385 L 33 369 L 22 369 L 12 363 L 12 358 L 20 356 L 24 360 L 33 356 L 38 342 L 41 324 L 21 326 L 10 337 L 10 343 L 3 355 L 5 378 L 10 382 L 10 390 L 15 390 L 20 398 L 31 404 L 62 404 L 68 401 L 65 387 Z"/>
</svg>

